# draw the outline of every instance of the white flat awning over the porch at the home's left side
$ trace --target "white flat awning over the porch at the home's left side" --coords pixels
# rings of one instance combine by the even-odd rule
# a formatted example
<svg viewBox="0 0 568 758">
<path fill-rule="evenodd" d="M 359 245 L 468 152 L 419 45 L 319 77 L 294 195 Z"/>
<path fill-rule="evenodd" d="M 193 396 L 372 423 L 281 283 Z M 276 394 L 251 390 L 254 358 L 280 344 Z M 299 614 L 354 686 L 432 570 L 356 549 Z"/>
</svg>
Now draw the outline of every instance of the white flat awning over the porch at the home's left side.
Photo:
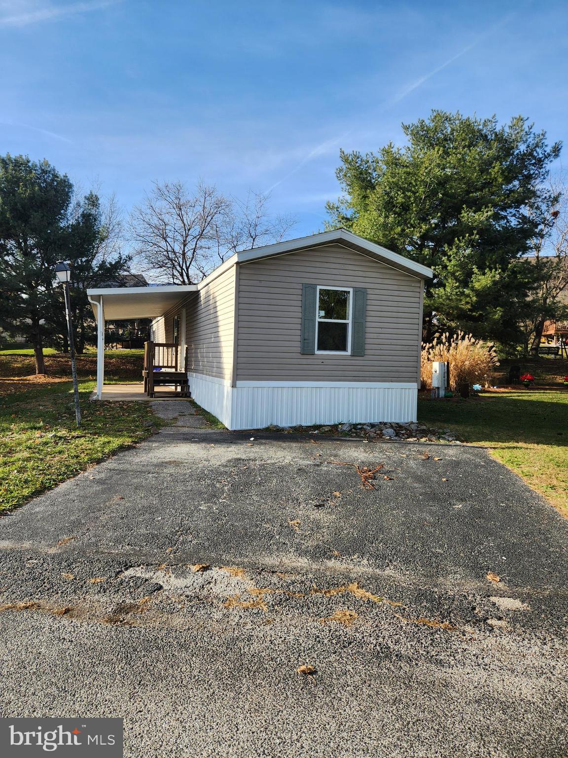
<svg viewBox="0 0 568 758">
<path fill-rule="evenodd" d="M 196 292 L 195 284 L 168 284 L 163 287 L 106 287 L 87 290 L 89 299 L 103 303 L 105 321 L 127 318 L 158 318 L 164 315 L 176 302 L 191 292 Z M 92 304 L 95 316 L 97 312 Z"/>
</svg>

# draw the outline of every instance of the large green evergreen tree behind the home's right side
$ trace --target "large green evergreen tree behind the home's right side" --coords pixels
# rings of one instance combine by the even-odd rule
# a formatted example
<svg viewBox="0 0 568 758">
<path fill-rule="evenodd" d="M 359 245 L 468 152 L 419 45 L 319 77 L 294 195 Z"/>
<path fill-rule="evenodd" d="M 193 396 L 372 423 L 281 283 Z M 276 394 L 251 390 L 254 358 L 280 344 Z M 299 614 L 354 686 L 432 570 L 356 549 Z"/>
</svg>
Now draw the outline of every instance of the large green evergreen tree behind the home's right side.
<svg viewBox="0 0 568 758">
<path fill-rule="evenodd" d="M 341 152 L 345 194 L 327 204 L 328 228 L 346 227 L 433 269 L 426 338 L 438 328 L 517 340 L 520 312 L 538 287 L 521 256 L 553 202 L 544 180 L 560 143 L 548 146 L 520 116 L 500 127 L 495 117 L 432 111 L 402 128 L 404 147 Z"/>
</svg>

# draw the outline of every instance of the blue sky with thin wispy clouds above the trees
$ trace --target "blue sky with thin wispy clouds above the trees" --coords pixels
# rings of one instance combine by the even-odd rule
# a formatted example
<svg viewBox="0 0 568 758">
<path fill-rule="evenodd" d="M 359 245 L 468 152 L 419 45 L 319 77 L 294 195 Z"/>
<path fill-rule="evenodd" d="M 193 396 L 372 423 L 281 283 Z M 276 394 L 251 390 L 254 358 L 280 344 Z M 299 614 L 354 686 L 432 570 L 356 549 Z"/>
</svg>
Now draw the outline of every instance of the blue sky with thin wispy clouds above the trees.
<svg viewBox="0 0 568 758">
<path fill-rule="evenodd" d="M 566 141 L 566 21 L 556 0 L 0 0 L 0 152 L 125 211 L 152 180 L 270 189 L 312 233 L 339 148 L 401 143 L 431 108 Z"/>
</svg>

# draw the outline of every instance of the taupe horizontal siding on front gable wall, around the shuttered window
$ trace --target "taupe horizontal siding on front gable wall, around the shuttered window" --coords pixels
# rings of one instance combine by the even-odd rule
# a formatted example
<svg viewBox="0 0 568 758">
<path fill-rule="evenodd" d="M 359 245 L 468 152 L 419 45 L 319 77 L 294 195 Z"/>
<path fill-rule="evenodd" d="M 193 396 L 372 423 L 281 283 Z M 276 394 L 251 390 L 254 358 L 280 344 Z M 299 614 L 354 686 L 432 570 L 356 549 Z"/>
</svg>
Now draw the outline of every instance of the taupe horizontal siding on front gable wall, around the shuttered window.
<svg viewBox="0 0 568 758">
<path fill-rule="evenodd" d="M 365 287 L 365 355 L 301 355 L 301 286 Z M 238 381 L 416 382 L 423 282 L 340 245 L 239 265 Z"/>
</svg>

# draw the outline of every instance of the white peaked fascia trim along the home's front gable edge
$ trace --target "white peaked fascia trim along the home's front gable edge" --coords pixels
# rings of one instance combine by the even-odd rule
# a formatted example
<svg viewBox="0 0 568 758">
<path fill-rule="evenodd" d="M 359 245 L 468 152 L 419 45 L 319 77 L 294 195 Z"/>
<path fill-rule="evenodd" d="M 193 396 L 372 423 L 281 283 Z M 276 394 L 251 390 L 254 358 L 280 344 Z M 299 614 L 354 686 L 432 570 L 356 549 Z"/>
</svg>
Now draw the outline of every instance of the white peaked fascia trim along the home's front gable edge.
<svg viewBox="0 0 568 758">
<path fill-rule="evenodd" d="M 410 258 L 405 258 L 404 255 L 398 255 L 398 252 L 392 252 L 392 250 L 388 250 L 385 247 L 369 242 L 369 240 L 364 240 L 363 237 L 346 229 L 321 232 L 319 234 L 312 234 L 311 236 L 299 237 L 297 240 L 288 240 L 286 242 L 276 243 L 275 245 L 257 247 L 252 250 L 242 250 L 241 252 L 236 253 L 236 260 L 239 263 L 248 263 L 257 258 L 267 258 L 270 255 L 282 255 L 282 253 L 304 249 L 312 244 L 323 245 L 337 241 L 358 245 L 359 247 L 366 249 L 368 252 L 372 252 L 377 258 L 391 261 L 395 265 L 401 266 L 401 268 L 414 271 L 420 277 L 431 278 L 434 275 L 431 268 L 427 268 L 427 266 L 411 261 Z"/>
</svg>

